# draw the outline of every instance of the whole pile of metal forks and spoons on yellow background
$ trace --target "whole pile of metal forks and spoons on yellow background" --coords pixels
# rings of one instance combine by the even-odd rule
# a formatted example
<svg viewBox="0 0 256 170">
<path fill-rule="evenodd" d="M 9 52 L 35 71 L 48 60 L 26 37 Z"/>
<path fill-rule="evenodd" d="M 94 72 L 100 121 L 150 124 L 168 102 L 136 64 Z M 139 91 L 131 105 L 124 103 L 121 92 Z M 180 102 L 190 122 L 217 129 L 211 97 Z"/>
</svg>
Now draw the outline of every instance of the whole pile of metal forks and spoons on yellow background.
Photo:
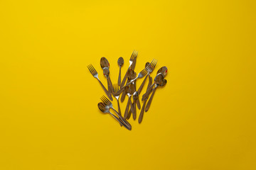
<svg viewBox="0 0 256 170">
<path fill-rule="evenodd" d="M 103 69 L 104 76 L 107 78 L 107 89 L 98 78 L 97 71 L 92 66 L 92 64 L 89 64 L 87 66 L 92 76 L 100 82 L 102 89 L 105 91 L 105 94 L 108 97 L 107 98 L 106 96 L 102 96 L 100 98 L 102 102 L 98 103 L 98 108 L 100 109 L 100 111 L 102 111 L 102 113 L 110 113 L 110 115 L 112 115 L 112 117 L 116 119 L 121 126 L 124 126 L 124 128 L 127 128 L 128 130 L 132 130 L 132 126 L 127 121 L 129 120 L 131 115 L 132 118 L 136 120 L 137 108 L 139 110 L 141 109 L 138 121 L 139 123 L 142 123 L 144 111 L 149 111 L 149 107 L 151 105 L 156 89 L 159 86 L 165 86 L 167 83 L 167 80 L 164 79 L 167 74 L 167 67 L 161 67 L 157 71 L 156 77 L 154 78 L 154 82 L 152 77 L 150 77 L 150 74 L 154 71 L 154 68 L 156 67 L 157 63 L 157 60 L 154 59 L 150 63 L 146 62 L 145 68 L 142 69 L 142 71 L 139 72 L 139 74 L 137 75 L 136 72 L 134 72 L 137 56 L 138 52 L 134 50 L 132 52 L 132 56 L 129 59 L 129 67 L 127 69 L 126 74 L 124 74 L 124 79 L 122 80 L 122 82 L 121 67 L 124 64 L 124 59 L 122 57 L 119 57 L 119 59 L 117 60 L 117 64 L 119 65 L 119 76 L 117 84 L 112 84 L 112 81 L 110 79 L 110 63 L 107 61 L 105 57 L 102 57 L 100 59 L 100 66 Z M 145 79 L 142 81 L 142 84 L 139 86 L 139 89 L 137 90 L 136 80 L 143 77 L 145 77 Z M 143 94 L 142 96 L 143 105 L 141 107 L 141 104 L 139 102 L 139 94 L 142 92 L 143 86 L 147 78 L 149 79 L 149 83 L 147 85 L 145 94 Z M 124 111 L 124 116 L 122 116 L 121 108 L 119 105 L 119 96 L 121 94 L 121 102 L 124 101 L 126 95 L 128 96 L 128 102 Z M 114 96 L 114 98 L 117 99 L 118 112 L 113 108 L 113 105 L 111 103 L 111 101 L 113 101 L 112 96 Z M 110 112 L 110 108 L 116 113 L 117 116 Z"/>
</svg>

